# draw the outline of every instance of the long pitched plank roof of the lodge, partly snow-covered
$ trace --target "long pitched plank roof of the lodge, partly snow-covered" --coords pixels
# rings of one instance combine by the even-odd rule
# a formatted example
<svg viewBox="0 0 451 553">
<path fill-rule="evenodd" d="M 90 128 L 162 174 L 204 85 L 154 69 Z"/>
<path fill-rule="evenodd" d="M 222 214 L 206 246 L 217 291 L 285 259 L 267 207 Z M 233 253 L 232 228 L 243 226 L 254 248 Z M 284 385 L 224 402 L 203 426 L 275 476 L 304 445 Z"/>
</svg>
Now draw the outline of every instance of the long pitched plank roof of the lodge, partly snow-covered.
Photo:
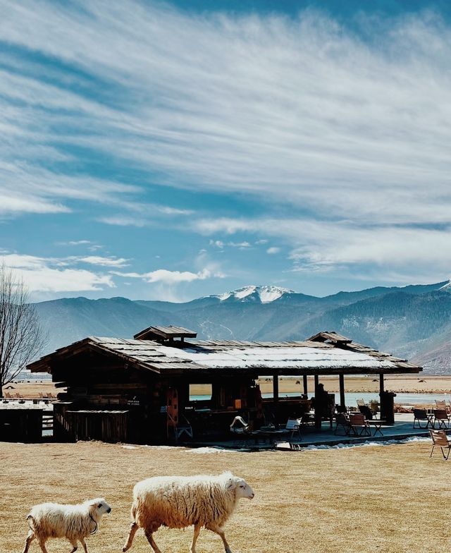
<svg viewBox="0 0 451 553">
<path fill-rule="evenodd" d="M 321 334 L 321 333 L 320 333 Z M 330 333 L 327 333 L 330 334 Z M 60 348 L 28 365 L 32 372 L 51 372 L 51 362 L 86 350 L 122 358 L 137 368 L 156 373 L 255 372 L 258 375 L 367 374 L 419 372 L 421 367 L 388 353 L 377 351 L 340 336 L 333 343 L 316 341 L 259 342 L 236 340 L 192 340 L 183 347 L 161 345 L 151 340 L 88 338 Z"/>
</svg>

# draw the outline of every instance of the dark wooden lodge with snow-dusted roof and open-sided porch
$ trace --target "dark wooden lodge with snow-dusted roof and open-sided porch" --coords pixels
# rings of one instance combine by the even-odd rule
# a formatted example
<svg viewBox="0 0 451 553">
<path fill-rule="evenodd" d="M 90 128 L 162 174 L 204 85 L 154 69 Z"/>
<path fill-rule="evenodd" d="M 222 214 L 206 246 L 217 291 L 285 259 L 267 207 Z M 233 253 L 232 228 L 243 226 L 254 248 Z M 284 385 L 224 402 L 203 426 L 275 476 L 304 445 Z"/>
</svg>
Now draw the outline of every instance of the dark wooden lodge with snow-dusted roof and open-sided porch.
<svg viewBox="0 0 451 553">
<path fill-rule="evenodd" d="M 32 372 L 49 372 L 57 387 L 67 389 L 54 403 L 54 438 L 199 442 L 228 437 L 235 415 L 255 427 L 268 420 L 285 423 L 289 415 L 309 411 L 310 404 L 307 395 L 280 398 L 280 376 L 302 377 L 307 394 L 307 376 L 313 375 L 319 398 L 321 376 L 339 375 L 344 408 L 346 375 L 379 375 L 381 404 L 388 396 L 385 409 L 393 412 L 384 375 L 421 371 L 335 332 L 283 342 L 195 337 L 179 327 L 149 327 L 134 339 L 90 336 L 28 365 Z M 272 398 L 262 399 L 259 377 L 273 380 Z M 206 384 L 211 397 L 190 396 L 192 384 Z M 315 413 L 321 427 L 322 414 L 319 409 Z"/>
</svg>

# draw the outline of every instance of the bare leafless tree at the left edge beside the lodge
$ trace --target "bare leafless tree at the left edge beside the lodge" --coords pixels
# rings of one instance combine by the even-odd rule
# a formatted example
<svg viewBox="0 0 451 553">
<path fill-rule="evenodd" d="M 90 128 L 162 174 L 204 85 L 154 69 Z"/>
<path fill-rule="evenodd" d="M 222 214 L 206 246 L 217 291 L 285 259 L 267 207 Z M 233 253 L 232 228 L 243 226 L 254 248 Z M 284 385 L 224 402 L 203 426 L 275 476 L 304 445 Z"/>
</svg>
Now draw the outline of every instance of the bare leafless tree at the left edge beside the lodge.
<svg viewBox="0 0 451 553">
<path fill-rule="evenodd" d="M 39 354 L 46 341 L 23 280 L 1 263 L 0 397 L 3 397 L 3 387 Z"/>
</svg>

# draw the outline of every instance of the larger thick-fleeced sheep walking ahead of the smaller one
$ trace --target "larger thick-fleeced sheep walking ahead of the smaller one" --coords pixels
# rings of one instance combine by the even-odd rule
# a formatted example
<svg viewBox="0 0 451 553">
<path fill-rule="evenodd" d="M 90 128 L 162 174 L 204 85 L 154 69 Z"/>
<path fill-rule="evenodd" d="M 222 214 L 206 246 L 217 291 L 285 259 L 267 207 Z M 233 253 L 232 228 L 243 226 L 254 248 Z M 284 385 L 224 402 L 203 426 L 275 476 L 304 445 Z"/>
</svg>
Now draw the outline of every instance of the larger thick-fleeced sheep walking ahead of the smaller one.
<svg viewBox="0 0 451 553">
<path fill-rule="evenodd" d="M 123 552 L 132 547 L 138 528 L 144 529 L 155 553 L 161 553 L 153 533 L 161 525 L 186 528 L 194 524 L 190 552 L 195 553 L 200 529 L 204 526 L 221 536 L 226 553 L 232 553 L 222 528 L 238 499 L 252 499 L 252 488 L 232 473 L 197 476 L 157 476 L 138 482 L 133 488 L 132 524 Z"/>
</svg>

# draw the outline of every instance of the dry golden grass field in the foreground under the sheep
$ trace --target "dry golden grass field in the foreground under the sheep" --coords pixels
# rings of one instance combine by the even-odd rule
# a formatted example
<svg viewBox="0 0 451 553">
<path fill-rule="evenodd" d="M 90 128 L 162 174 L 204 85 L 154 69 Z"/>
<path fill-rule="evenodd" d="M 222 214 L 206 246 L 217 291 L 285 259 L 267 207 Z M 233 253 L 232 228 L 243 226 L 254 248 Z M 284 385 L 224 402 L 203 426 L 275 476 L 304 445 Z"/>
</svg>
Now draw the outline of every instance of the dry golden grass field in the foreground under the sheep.
<svg viewBox="0 0 451 553">
<path fill-rule="evenodd" d="M 128 533 L 130 495 L 152 475 L 232 470 L 256 492 L 242 499 L 227 525 L 234 553 L 424 553 L 451 546 L 451 461 L 429 459 L 426 442 L 302 452 L 199 453 L 182 448 L 124 448 L 97 442 L 0 444 L 0 551 L 22 550 L 33 504 L 76 502 L 104 495 L 113 506 L 90 553 L 121 552 Z M 188 552 L 192 529 L 159 530 L 162 552 Z M 223 551 L 202 530 L 198 553 Z M 49 553 L 70 551 L 62 540 Z M 150 552 L 140 531 L 131 552 Z M 30 553 L 38 553 L 32 543 Z"/>
</svg>

